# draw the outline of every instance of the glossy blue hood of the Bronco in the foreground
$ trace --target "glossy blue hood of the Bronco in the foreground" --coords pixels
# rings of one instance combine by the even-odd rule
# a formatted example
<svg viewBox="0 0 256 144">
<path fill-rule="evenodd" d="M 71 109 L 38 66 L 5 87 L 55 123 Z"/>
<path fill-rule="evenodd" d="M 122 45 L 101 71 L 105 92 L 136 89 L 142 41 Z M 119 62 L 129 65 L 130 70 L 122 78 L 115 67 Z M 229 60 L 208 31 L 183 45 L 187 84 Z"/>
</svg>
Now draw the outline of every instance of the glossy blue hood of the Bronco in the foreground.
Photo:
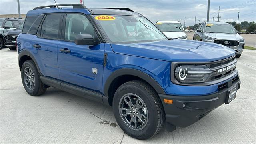
<svg viewBox="0 0 256 144">
<path fill-rule="evenodd" d="M 236 54 L 234 50 L 220 44 L 178 39 L 111 46 L 118 54 L 170 62 L 212 62 Z"/>
</svg>

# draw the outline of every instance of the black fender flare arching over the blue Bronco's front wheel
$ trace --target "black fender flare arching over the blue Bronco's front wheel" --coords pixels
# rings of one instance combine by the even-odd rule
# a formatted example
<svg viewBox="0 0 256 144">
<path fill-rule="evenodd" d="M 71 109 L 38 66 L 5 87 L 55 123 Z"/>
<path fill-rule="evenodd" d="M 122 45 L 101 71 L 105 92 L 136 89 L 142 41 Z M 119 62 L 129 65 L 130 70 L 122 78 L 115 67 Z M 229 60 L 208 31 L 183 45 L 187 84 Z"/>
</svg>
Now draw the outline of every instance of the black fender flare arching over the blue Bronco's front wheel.
<svg viewBox="0 0 256 144">
<path fill-rule="evenodd" d="M 132 75 L 132 76 L 140 77 L 146 82 L 148 82 L 148 84 L 150 84 L 158 94 L 165 94 L 164 89 L 160 86 L 160 84 L 156 82 L 156 80 L 154 80 L 154 78 L 152 78 L 148 74 L 133 68 L 122 68 L 113 72 L 106 80 L 106 83 L 104 86 L 104 96 L 108 97 L 108 90 L 113 80 L 123 75 Z"/>
</svg>

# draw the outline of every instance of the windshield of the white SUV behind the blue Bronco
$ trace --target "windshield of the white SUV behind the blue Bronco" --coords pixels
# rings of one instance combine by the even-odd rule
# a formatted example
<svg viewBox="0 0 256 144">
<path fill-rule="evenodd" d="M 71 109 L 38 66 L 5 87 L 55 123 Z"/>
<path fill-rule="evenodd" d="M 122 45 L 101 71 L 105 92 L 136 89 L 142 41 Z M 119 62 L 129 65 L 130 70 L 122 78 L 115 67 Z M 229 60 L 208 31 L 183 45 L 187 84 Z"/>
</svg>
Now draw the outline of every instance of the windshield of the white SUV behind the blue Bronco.
<svg viewBox="0 0 256 144">
<path fill-rule="evenodd" d="M 182 25 L 180 23 L 156 23 L 156 27 L 158 27 L 162 32 L 183 32 Z"/>
</svg>

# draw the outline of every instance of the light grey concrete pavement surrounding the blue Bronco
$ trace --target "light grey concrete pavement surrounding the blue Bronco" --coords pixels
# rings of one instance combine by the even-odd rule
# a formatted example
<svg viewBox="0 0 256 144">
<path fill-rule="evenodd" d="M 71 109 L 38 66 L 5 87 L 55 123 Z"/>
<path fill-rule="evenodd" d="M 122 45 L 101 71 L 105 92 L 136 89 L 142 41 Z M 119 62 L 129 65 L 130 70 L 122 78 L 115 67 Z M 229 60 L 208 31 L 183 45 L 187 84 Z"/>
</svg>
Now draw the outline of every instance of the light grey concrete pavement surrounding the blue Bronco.
<svg viewBox="0 0 256 144">
<path fill-rule="evenodd" d="M 0 144 L 252 144 L 256 142 L 256 50 L 244 50 L 236 99 L 195 124 L 148 140 L 124 134 L 112 108 L 48 88 L 33 97 L 22 86 L 18 54 L 0 50 Z"/>
</svg>

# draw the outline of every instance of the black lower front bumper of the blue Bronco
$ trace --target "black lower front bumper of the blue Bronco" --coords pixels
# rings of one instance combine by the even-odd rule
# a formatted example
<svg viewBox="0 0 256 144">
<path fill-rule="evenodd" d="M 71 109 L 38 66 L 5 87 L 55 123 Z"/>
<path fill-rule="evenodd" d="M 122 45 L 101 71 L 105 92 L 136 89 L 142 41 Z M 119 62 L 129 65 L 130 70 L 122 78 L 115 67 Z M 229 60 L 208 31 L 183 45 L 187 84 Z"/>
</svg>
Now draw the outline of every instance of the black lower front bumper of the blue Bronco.
<svg viewBox="0 0 256 144">
<path fill-rule="evenodd" d="M 234 88 L 234 86 L 238 86 L 239 89 L 240 84 L 241 82 L 238 77 L 235 81 L 230 80 L 227 82 L 226 88 L 206 96 L 172 96 L 159 94 L 164 106 L 168 127 L 186 127 L 197 122 L 209 112 L 225 103 L 228 90 Z M 164 103 L 164 99 L 173 100 L 173 103 L 166 104 Z"/>
</svg>

